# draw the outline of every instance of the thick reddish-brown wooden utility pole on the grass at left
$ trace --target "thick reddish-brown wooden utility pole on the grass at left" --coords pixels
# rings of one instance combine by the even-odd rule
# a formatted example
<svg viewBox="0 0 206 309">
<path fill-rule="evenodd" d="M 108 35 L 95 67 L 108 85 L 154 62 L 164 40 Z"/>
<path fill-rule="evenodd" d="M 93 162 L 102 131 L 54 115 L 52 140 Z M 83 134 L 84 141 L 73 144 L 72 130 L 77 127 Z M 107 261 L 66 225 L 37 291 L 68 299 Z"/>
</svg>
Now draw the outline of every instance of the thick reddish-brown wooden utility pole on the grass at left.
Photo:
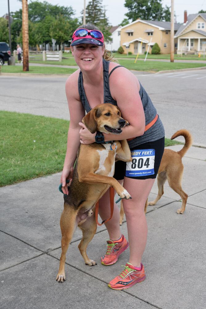
<svg viewBox="0 0 206 309">
<path fill-rule="evenodd" d="M 27 0 L 22 0 L 22 43 L 23 43 L 23 71 L 29 71 L 29 23 L 28 23 Z"/>
</svg>

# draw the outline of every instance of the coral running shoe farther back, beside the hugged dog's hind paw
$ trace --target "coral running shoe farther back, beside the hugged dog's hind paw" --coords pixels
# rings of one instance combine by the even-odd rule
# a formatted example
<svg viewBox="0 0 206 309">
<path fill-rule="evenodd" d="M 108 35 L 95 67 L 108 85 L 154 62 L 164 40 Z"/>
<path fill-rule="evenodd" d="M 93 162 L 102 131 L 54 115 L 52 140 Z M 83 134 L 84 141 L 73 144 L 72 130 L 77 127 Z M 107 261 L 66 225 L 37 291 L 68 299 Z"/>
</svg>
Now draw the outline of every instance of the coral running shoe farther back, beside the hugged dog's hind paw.
<svg viewBox="0 0 206 309">
<path fill-rule="evenodd" d="M 128 247 L 129 243 L 124 235 L 122 235 L 122 241 L 120 242 L 107 240 L 107 252 L 103 257 L 101 257 L 101 264 L 106 266 L 113 265 L 117 262 L 120 254 L 124 252 Z"/>
</svg>

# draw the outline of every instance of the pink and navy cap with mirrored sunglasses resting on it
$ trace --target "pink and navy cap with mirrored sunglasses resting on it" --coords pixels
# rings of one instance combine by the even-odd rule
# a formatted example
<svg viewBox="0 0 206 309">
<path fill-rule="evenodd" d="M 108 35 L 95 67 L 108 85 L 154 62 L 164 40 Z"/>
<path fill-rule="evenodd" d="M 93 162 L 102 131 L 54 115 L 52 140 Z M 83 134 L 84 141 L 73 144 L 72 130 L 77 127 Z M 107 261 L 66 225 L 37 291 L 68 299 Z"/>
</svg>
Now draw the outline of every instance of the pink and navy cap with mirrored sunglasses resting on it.
<svg viewBox="0 0 206 309">
<path fill-rule="evenodd" d="M 77 29 L 72 35 L 72 44 L 71 46 L 77 44 L 94 44 L 103 46 L 104 45 L 104 36 L 99 30 L 91 29 Z"/>
</svg>

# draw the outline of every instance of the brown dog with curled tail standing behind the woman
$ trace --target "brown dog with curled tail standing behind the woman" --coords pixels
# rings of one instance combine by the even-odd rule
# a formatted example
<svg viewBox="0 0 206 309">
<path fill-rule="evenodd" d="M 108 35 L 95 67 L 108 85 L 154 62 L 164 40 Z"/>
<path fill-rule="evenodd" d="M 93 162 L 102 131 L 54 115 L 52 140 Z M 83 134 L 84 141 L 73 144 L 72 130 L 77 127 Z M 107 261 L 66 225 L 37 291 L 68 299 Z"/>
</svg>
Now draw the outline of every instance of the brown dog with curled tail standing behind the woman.
<svg viewBox="0 0 206 309">
<path fill-rule="evenodd" d="M 192 146 L 192 135 L 190 134 L 189 131 L 182 129 L 173 134 L 171 139 L 174 139 L 178 136 L 183 136 L 185 138 L 185 144 L 183 148 L 177 152 L 171 149 L 164 150 L 157 176 L 158 195 L 154 201 L 151 202 L 146 201 L 144 209 L 145 214 L 147 205 L 155 205 L 157 201 L 159 201 L 159 199 L 164 194 L 163 186 L 166 180 L 168 180 L 170 188 L 172 188 L 176 193 L 178 193 L 182 199 L 182 207 L 177 210 L 177 214 L 183 214 L 185 211 L 188 195 L 182 189 L 182 177 L 184 169 L 182 163 L 182 157 L 186 154 L 187 150 Z M 124 218 L 124 210 L 121 201 L 120 225 L 122 225 L 123 218 Z"/>
</svg>

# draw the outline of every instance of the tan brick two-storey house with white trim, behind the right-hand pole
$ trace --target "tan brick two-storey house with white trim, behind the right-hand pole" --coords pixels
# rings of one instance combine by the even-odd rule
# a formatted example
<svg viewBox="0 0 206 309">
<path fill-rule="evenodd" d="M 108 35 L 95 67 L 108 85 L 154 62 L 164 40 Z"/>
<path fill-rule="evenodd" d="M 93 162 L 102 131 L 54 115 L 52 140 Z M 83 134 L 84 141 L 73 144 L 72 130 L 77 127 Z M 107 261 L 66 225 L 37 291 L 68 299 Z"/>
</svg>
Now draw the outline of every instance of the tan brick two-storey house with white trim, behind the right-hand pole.
<svg viewBox="0 0 206 309">
<path fill-rule="evenodd" d="M 175 33 L 181 24 L 175 23 Z M 152 46 L 157 43 L 161 54 L 170 53 L 170 22 L 156 20 L 137 19 L 132 23 L 123 26 L 121 31 L 121 46 L 124 53 L 144 54 L 147 51 L 151 53 Z M 142 42 L 142 44 L 141 44 Z M 177 39 L 175 39 L 175 51 L 177 49 Z"/>
</svg>

